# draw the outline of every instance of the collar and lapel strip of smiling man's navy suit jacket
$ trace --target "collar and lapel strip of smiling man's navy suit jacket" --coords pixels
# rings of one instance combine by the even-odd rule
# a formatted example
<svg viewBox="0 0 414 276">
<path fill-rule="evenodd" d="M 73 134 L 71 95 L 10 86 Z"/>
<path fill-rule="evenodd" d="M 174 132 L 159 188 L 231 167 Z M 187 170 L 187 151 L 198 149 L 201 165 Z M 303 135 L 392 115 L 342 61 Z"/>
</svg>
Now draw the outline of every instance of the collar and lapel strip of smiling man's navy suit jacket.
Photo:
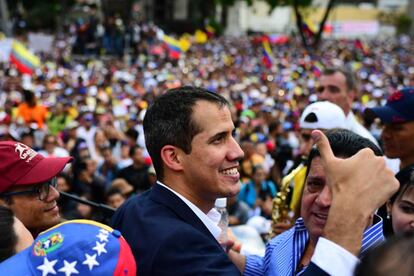
<svg viewBox="0 0 414 276">
<path fill-rule="evenodd" d="M 178 217 L 192 225 L 194 228 L 208 235 L 210 238 L 216 241 L 214 236 L 204 225 L 204 223 L 198 218 L 198 216 L 182 201 L 178 196 L 161 185 L 154 185 L 151 190 L 150 198 L 170 208 Z M 217 242 L 218 244 L 218 242 Z"/>
</svg>

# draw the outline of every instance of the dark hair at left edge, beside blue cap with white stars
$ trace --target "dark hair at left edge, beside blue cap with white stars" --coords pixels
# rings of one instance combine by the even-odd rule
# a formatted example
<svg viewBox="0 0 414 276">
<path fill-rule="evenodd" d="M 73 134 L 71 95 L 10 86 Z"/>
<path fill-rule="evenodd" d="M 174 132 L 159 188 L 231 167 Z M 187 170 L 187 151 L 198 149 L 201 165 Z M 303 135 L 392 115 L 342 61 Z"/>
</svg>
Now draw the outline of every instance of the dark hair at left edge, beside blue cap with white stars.
<svg viewBox="0 0 414 276">
<path fill-rule="evenodd" d="M 16 253 L 16 244 L 13 212 L 0 205 L 0 263 Z"/>
</svg>

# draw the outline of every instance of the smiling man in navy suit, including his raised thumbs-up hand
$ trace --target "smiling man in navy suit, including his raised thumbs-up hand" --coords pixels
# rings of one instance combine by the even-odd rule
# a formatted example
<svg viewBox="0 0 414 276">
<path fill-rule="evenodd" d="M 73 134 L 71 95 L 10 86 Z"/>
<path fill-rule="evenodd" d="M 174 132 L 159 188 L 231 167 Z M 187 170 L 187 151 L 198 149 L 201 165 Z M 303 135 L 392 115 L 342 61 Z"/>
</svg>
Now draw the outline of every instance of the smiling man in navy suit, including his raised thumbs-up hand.
<svg viewBox="0 0 414 276">
<path fill-rule="evenodd" d="M 243 152 L 232 136 L 233 130 L 227 100 L 200 88 L 169 90 L 148 109 L 144 133 L 158 182 L 121 206 L 112 223 L 130 244 L 138 275 L 240 274 L 217 242 L 220 229 L 208 216 L 217 198 L 235 196 L 240 190 L 238 167 Z M 326 275 L 323 264 L 342 254 L 335 253 L 338 249 L 330 250 L 332 242 L 348 250 L 351 257 L 356 255 L 365 226 L 361 217 L 371 214 L 398 183 L 392 181 L 392 172 L 387 174 L 385 166 L 378 166 L 383 161 L 375 159 L 373 153 L 338 160 L 329 151 L 327 138 L 320 132 L 316 136 L 327 163 L 327 177 L 332 177 L 334 199 L 324 235 L 330 241 L 325 241 L 324 247 L 318 242 L 306 275 Z M 353 173 L 358 166 L 361 171 L 373 171 L 376 178 Z M 374 170 L 377 167 L 381 170 Z M 374 193 L 380 185 L 381 191 Z M 349 204 L 361 189 L 375 195 L 363 203 Z M 344 214 L 354 231 L 343 222 Z M 232 260 L 243 271 L 237 259 Z"/>
</svg>

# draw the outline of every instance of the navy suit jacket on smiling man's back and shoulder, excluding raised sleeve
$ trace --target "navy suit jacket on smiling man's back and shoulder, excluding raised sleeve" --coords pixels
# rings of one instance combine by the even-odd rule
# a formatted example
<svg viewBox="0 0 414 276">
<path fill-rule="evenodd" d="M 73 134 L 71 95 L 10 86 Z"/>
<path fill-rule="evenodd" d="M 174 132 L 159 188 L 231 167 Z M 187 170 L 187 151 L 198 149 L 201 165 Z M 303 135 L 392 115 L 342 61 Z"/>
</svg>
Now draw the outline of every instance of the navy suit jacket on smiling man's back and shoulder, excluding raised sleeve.
<svg viewBox="0 0 414 276">
<path fill-rule="evenodd" d="M 240 274 L 197 215 L 161 185 L 125 203 L 114 223 L 128 236 L 138 275 Z"/>
</svg>

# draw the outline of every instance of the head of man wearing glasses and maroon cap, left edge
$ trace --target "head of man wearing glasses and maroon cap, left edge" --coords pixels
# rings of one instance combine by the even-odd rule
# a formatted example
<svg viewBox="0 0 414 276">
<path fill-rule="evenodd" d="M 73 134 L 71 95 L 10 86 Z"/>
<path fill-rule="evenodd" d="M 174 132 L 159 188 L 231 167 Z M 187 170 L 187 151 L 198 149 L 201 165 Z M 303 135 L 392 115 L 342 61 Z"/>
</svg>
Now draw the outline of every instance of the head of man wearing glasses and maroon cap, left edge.
<svg viewBox="0 0 414 276">
<path fill-rule="evenodd" d="M 0 142 L 0 205 L 34 237 L 60 222 L 56 176 L 72 157 L 43 157 L 25 144 Z"/>
</svg>

